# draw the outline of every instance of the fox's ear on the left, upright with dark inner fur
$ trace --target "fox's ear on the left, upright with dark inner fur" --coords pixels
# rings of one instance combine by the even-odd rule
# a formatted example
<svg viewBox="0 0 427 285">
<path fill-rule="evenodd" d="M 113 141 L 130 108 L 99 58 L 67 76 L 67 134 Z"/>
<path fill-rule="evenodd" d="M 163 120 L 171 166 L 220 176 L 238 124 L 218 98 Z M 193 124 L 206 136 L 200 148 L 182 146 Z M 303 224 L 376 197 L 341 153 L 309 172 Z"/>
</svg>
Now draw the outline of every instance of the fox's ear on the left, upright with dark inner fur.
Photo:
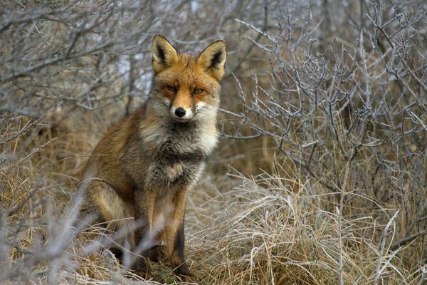
<svg viewBox="0 0 427 285">
<path fill-rule="evenodd" d="M 178 61 L 178 53 L 175 48 L 164 36 L 159 34 L 153 38 L 152 55 L 153 70 L 156 74 Z"/>
</svg>

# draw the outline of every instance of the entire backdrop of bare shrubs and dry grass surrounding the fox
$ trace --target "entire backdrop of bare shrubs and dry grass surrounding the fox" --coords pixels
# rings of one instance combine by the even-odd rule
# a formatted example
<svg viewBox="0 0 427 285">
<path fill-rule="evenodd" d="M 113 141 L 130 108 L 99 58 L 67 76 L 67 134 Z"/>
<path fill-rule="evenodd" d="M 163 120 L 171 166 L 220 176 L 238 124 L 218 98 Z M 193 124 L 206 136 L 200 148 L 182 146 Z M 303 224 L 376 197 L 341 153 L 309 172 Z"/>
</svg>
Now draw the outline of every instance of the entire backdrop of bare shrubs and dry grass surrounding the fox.
<svg viewBox="0 0 427 285">
<path fill-rule="evenodd" d="M 132 284 L 73 193 L 147 99 L 154 34 L 227 43 L 186 212 L 201 284 L 425 284 L 427 2 L 2 1 L 0 283 Z M 102 235 L 102 229 L 93 227 Z M 92 234 L 93 234 L 92 232 Z M 153 281 L 176 284 L 156 265 Z"/>
</svg>

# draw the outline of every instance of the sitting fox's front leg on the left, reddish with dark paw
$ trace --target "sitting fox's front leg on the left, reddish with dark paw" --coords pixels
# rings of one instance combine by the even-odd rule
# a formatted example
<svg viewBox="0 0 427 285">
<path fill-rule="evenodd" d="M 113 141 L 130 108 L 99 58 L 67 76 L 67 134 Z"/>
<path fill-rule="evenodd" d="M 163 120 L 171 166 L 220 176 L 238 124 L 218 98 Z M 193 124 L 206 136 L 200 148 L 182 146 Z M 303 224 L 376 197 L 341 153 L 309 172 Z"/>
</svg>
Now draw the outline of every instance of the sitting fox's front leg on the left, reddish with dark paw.
<svg viewBox="0 0 427 285">
<path fill-rule="evenodd" d="M 135 249 L 132 251 L 140 255 L 134 261 L 132 269 L 135 269 L 137 275 L 144 279 L 149 279 L 149 250 L 152 247 L 152 222 L 154 213 L 154 204 L 156 201 L 156 192 L 135 190 L 135 218 L 139 227 L 136 230 Z"/>
</svg>

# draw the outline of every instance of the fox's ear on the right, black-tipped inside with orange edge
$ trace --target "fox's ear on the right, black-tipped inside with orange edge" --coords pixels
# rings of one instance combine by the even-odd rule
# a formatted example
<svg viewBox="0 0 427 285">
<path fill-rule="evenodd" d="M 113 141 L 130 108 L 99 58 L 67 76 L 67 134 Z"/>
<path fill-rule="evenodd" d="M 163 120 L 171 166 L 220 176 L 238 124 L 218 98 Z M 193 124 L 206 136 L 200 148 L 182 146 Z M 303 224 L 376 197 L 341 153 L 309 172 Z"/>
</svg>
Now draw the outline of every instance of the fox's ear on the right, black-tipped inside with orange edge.
<svg viewBox="0 0 427 285">
<path fill-rule="evenodd" d="M 214 76 L 217 81 L 221 81 L 225 72 L 226 42 L 214 41 L 211 43 L 200 53 L 197 63 L 203 66 L 206 72 Z"/>
</svg>

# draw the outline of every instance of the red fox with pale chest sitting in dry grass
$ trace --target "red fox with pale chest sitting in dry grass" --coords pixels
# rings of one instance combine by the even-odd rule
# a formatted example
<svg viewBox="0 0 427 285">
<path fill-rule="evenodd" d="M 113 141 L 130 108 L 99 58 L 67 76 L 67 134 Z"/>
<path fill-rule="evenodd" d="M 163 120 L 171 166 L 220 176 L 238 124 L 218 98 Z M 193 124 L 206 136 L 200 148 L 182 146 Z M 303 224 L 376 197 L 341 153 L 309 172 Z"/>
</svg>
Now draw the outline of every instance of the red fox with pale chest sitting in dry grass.
<svg viewBox="0 0 427 285">
<path fill-rule="evenodd" d="M 224 41 L 192 56 L 155 35 L 147 100 L 107 131 L 84 167 L 78 219 L 125 232 L 136 256 L 130 268 L 144 279 L 150 258 L 166 258 L 181 279 L 197 279 L 184 259 L 186 196 L 218 141 L 225 62 Z"/>
</svg>

